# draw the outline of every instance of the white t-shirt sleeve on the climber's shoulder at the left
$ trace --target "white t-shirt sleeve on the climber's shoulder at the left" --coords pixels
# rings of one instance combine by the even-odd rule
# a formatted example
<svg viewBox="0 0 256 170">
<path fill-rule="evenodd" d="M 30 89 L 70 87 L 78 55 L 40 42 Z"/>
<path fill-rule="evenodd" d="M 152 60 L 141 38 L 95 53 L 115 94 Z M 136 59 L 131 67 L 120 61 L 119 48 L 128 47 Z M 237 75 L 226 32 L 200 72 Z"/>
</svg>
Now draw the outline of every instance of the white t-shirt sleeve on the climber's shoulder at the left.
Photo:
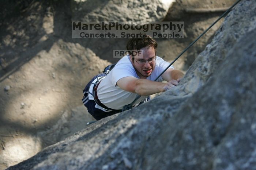
<svg viewBox="0 0 256 170">
<path fill-rule="evenodd" d="M 117 67 L 115 66 L 113 70 L 111 70 L 111 72 L 112 72 L 111 81 L 114 86 L 116 86 L 116 82 L 121 78 L 129 77 L 129 76 L 135 77 L 135 74 L 136 74 L 136 73 L 134 74 L 135 70 L 133 70 L 131 66 L 124 65 L 124 64 L 118 65 Z"/>
</svg>

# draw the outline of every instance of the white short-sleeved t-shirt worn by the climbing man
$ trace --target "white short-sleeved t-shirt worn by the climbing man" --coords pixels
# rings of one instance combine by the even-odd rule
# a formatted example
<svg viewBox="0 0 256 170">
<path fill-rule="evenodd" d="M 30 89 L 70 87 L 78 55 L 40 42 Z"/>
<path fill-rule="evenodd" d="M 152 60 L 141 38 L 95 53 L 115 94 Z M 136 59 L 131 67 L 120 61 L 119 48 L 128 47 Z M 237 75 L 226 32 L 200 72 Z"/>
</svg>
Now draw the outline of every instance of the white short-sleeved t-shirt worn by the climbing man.
<svg viewBox="0 0 256 170">
<path fill-rule="evenodd" d="M 157 76 L 159 76 L 159 74 L 162 73 L 162 71 L 166 69 L 168 65 L 170 65 L 169 62 L 164 61 L 158 56 L 155 62 L 156 63 L 153 72 L 150 76 L 147 77 L 147 79 L 151 81 L 154 81 Z M 169 68 L 174 69 L 173 66 L 170 66 Z M 132 66 L 129 57 L 124 56 L 120 59 L 120 61 L 116 63 L 114 68 L 99 84 L 97 89 L 99 101 L 101 101 L 101 103 L 106 107 L 112 109 L 122 109 L 125 105 L 131 104 L 132 101 L 137 96 L 139 96 L 139 94 L 125 91 L 116 85 L 118 80 L 128 76 L 139 78 Z M 162 76 L 159 77 L 157 81 L 162 82 Z M 147 97 L 148 96 L 141 96 L 133 105 L 140 103 L 140 101 Z"/>
</svg>

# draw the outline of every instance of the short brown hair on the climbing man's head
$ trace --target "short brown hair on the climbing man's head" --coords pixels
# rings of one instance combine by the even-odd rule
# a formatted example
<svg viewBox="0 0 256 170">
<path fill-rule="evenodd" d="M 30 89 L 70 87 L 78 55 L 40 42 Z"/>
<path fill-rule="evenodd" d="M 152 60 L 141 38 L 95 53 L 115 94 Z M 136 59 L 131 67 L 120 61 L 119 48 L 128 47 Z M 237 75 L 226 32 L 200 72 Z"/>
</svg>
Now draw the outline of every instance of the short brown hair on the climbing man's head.
<svg viewBox="0 0 256 170">
<path fill-rule="evenodd" d="M 140 50 L 144 47 L 154 47 L 155 54 L 157 53 L 157 42 L 149 35 L 146 38 L 132 38 L 128 41 L 126 49 L 129 50 Z M 132 61 L 134 57 L 132 56 Z"/>
</svg>

